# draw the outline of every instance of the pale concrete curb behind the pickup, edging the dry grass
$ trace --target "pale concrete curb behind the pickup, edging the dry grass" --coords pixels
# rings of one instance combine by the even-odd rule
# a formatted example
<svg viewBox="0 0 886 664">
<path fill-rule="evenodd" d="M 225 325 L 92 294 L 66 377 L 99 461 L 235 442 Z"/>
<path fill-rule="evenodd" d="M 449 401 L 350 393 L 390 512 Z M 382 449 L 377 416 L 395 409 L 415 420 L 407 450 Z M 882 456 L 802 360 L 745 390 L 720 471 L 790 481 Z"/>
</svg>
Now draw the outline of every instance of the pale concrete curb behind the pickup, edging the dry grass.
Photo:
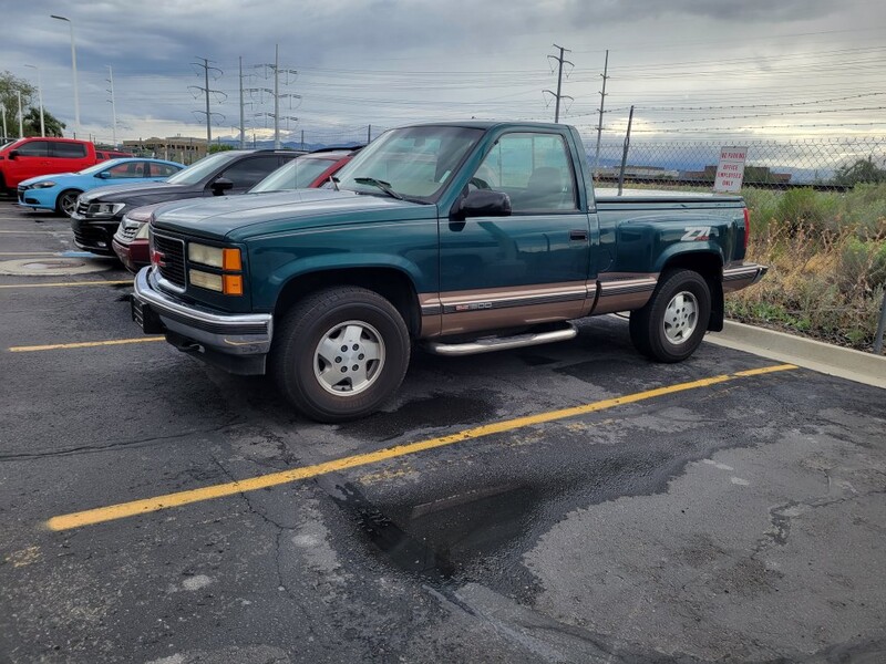
<svg viewBox="0 0 886 664">
<path fill-rule="evenodd" d="M 709 332 L 704 341 L 886 388 L 886 356 L 733 321 L 725 321 L 722 332 Z"/>
</svg>

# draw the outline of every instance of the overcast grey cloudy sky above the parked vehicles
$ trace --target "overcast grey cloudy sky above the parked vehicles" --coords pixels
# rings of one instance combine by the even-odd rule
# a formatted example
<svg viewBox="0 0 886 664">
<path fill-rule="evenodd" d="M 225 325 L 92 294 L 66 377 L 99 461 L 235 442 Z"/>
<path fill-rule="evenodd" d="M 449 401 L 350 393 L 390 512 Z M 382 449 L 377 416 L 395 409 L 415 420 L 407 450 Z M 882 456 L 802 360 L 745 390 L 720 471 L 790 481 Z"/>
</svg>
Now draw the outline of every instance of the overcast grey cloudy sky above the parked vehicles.
<svg viewBox="0 0 886 664">
<path fill-rule="evenodd" d="M 886 131 L 882 0 L 91 0 L 3 3 L 0 71 L 37 83 L 74 128 L 69 24 L 76 44 L 81 135 L 205 137 L 198 91 L 209 59 L 213 136 L 267 135 L 267 70 L 279 44 L 280 116 L 298 139 L 336 142 L 411 121 L 554 118 L 556 43 L 566 60 L 560 120 L 596 135 L 605 51 L 604 139 L 805 137 Z M 195 98 L 194 93 L 197 94 Z M 295 96 L 282 95 L 300 95 Z M 256 115 L 259 115 L 256 117 Z M 298 120 L 295 120 L 298 118 Z M 285 136 L 286 138 L 287 136 Z"/>
</svg>

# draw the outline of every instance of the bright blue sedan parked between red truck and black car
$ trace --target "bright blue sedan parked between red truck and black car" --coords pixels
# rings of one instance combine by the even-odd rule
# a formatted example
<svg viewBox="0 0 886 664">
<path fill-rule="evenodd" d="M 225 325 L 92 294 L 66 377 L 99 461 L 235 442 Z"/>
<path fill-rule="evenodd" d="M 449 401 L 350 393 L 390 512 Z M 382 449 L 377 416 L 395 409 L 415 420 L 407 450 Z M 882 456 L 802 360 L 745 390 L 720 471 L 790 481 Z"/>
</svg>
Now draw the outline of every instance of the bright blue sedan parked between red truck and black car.
<svg viewBox="0 0 886 664">
<path fill-rule="evenodd" d="M 101 162 L 80 173 L 41 175 L 19 183 L 19 205 L 35 210 L 54 210 L 70 217 L 76 197 L 83 191 L 109 185 L 165 180 L 184 167 L 176 162 L 128 157 Z"/>
</svg>

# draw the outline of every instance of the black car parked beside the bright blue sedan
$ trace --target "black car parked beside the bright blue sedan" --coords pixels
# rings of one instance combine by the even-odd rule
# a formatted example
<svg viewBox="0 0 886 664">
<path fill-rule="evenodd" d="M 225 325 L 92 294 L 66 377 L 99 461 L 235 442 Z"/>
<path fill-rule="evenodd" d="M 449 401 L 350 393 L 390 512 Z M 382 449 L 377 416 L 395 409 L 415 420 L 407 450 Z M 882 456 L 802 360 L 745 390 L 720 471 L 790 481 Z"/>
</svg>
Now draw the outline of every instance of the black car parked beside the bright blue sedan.
<svg viewBox="0 0 886 664">
<path fill-rule="evenodd" d="M 165 181 L 101 187 L 82 194 L 71 215 L 74 243 L 80 249 L 114 256 L 111 239 L 126 210 L 200 196 L 243 194 L 290 159 L 291 149 L 235 149 L 204 157 Z"/>
</svg>

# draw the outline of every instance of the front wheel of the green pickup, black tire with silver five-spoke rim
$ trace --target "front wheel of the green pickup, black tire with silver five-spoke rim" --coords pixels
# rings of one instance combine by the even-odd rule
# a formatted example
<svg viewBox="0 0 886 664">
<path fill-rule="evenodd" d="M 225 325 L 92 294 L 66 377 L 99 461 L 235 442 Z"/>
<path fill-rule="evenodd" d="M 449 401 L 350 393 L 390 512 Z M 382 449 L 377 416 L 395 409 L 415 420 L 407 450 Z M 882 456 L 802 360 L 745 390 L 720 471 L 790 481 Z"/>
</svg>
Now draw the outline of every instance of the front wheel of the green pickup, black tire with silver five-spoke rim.
<svg viewBox="0 0 886 664">
<path fill-rule="evenodd" d="M 338 344 L 346 341 L 340 352 Z M 308 417 L 344 422 L 373 413 L 396 392 L 410 350 L 403 318 L 388 300 L 363 288 L 330 288 L 284 315 L 274 335 L 270 373 Z"/>
</svg>

